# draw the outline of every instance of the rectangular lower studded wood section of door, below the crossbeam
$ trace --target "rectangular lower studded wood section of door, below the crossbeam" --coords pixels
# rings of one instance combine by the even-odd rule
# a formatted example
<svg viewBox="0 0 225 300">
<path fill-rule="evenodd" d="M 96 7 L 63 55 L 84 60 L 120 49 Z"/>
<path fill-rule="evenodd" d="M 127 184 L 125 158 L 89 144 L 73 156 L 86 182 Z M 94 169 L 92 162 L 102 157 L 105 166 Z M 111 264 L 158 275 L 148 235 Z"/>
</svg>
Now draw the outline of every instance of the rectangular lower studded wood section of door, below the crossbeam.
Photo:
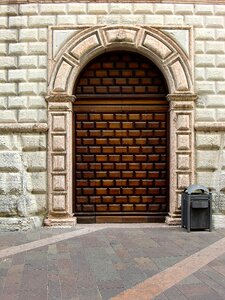
<svg viewBox="0 0 225 300">
<path fill-rule="evenodd" d="M 105 220 L 164 215 L 168 210 L 166 107 L 79 110 L 75 111 L 78 221 L 79 216 L 96 221 L 102 215 Z"/>
</svg>

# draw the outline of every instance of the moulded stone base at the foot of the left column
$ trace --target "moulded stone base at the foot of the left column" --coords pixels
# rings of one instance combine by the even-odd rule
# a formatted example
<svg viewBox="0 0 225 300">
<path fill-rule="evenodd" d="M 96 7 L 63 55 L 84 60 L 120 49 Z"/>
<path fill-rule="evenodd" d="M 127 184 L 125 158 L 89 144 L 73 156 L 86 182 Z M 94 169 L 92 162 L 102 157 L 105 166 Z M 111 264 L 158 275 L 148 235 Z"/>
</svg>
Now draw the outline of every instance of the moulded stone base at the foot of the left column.
<svg viewBox="0 0 225 300">
<path fill-rule="evenodd" d="M 47 216 L 44 220 L 44 226 L 48 227 L 74 227 L 77 224 L 77 218 L 72 216 Z"/>
</svg>

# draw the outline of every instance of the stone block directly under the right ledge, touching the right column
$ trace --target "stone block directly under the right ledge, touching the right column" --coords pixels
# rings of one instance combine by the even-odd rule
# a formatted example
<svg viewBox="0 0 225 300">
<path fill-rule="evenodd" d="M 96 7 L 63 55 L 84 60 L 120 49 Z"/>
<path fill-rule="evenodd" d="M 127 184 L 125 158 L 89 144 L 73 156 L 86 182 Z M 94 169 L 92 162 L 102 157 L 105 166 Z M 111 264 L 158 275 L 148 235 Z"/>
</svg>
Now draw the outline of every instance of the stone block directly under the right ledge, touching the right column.
<svg viewBox="0 0 225 300">
<path fill-rule="evenodd" d="M 198 149 L 220 148 L 221 135 L 219 133 L 197 133 L 196 146 Z"/>
</svg>

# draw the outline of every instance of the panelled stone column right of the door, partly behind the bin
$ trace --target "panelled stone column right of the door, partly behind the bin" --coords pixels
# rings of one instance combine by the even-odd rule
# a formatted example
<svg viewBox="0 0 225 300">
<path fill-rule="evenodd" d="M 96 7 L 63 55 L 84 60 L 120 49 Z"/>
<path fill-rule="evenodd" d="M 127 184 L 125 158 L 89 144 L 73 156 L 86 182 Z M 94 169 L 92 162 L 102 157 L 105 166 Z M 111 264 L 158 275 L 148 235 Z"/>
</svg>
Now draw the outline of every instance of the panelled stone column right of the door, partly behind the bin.
<svg viewBox="0 0 225 300">
<path fill-rule="evenodd" d="M 170 94 L 170 209 L 166 223 L 181 222 L 181 192 L 194 183 L 194 104 L 193 94 Z"/>
</svg>

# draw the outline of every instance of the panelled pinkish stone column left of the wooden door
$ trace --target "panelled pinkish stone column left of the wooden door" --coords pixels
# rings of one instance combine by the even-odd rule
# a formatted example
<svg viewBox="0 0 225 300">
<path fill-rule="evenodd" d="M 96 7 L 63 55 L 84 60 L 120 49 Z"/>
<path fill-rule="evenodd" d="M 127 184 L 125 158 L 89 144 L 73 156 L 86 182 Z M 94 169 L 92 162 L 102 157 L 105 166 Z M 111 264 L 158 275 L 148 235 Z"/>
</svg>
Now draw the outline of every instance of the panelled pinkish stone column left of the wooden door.
<svg viewBox="0 0 225 300">
<path fill-rule="evenodd" d="M 74 96 L 53 94 L 48 102 L 48 216 L 46 225 L 74 225 L 72 215 L 72 105 Z"/>
</svg>

